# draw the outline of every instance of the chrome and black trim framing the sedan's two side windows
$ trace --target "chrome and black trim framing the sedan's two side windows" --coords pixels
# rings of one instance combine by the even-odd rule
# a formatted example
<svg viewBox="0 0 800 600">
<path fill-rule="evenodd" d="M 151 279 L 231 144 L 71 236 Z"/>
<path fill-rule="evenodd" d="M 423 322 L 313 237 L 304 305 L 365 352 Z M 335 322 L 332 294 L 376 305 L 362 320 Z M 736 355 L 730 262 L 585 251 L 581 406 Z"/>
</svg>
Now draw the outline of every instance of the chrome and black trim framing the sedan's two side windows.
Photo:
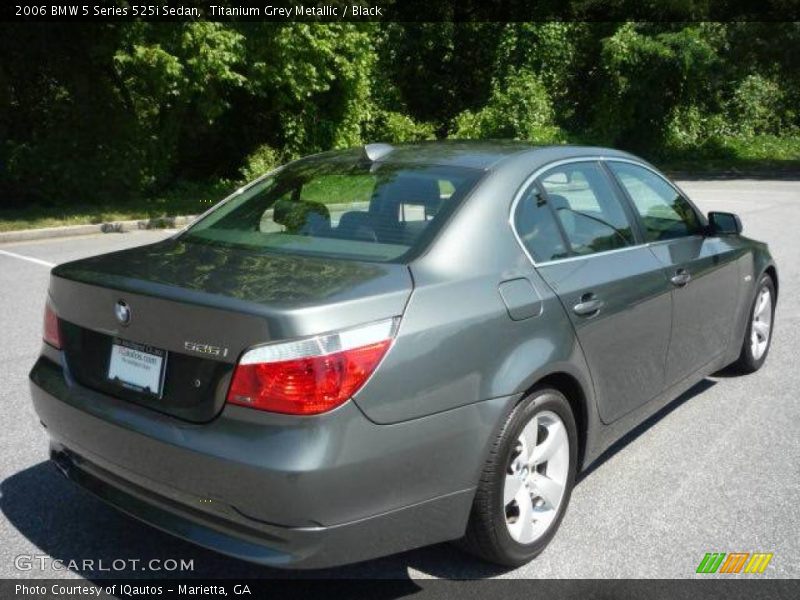
<svg viewBox="0 0 800 600">
<path fill-rule="evenodd" d="M 692 208 L 692 210 L 698 216 L 701 226 L 705 226 L 706 225 L 706 220 L 703 217 L 703 214 L 697 209 L 697 207 L 694 205 L 694 202 L 692 202 L 686 196 L 686 194 L 683 193 L 683 190 L 681 190 L 678 186 L 676 186 L 669 179 L 667 179 L 667 177 L 663 173 L 660 173 L 659 171 L 657 171 L 655 169 L 655 167 L 651 167 L 651 166 L 645 164 L 644 162 L 642 162 L 640 160 L 634 160 L 634 159 L 630 159 L 630 158 L 616 157 L 616 156 L 611 157 L 611 156 L 598 156 L 598 155 L 587 155 L 587 156 L 580 156 L 580 157 L 574 156 L 574 157 L 571 157 L 571 158 L 564 158 L 564 159 L 560 159 L 560 160 L 555 160 L 555 161 L 549 162 L 549 163 L 547 163 L 545 165 L 542 165 L 541 167 L 536 169 L 533 173 L 528 175 L 528 177 L 525 178 L 525 181 L 522 182 L 522 185 L 519 187 L 519 189 L 517 190 L 516 194 L 514 195 L 514 199 L 511 201 L 511 208 L 510 208 L 509 214 L 508 214 L 508 225 L 511 228 L 511 232 L 514 235 L 514 239 L 516 240 L 516 242 L 519 245 L 519 247 L 522 249 L 522 252 L 525 254 L 525 256 L 528 257 L 528 260 L 531 261 L 531 264 L 534 267 L 538 268 L 538 267 L 558 264 L 558 263 L 562 263 L 562 262 L 572 262 L 572 261 L 576 261 L 576 260 L 585 260 L 585 259 L 590 259 L 590 258 L 595 257 L 595 256 L 606 256 L 608 254 L 616 254 L 616 253 L 619 253 L 619 252 L 627 252 L 629 250 L 637 250 L 637 249 L 640 249 L 640 248 L 649 248 L 650 246 L 657 246 L 657 245 L 661 245 L 661 244 L 675 243 L 676 241 L 690 240 L 690 239 L 693 239 L 693 238 L 703 238 L 703 237 L 705 237 L 702 233 L 700 233 L 700 234 L 693 234 L 693 235 L 686 236 L 686 237 L 681 237 L 681 238 L 674 238 L 674 239 L 670 239 L 670 240 L 658 240 L 658 241 L 654 241 L 654 242 L 647 242 L 647 241 L 644 241 L 643 237 L 640 237 L 640 236 L 637 235 L 638 243 L 632 244 L 630 246 L 625 246 L 624 248 L 614 248 L 612 250 L 602 250 L 600 252 L 593 252 L 592 254 L 581 254 L 581 255 L 576 255 L 576 256 L 568 256 L 566 258 L 556 258 L 556 259 L 553 259 L 553 260 L 546 260 L 546 261 L 542 261 L 542 262 L 537 262 L 533 258 L 531 253 L 528 251 L 528 248 L 525 247 L 525 244 L 523 243 L 522 238 L 520 237 L 519 232 L 517 231 L 517 228 L 514 225 L 514 215 L 515 215 L 515 213 L 517 211 L 517 206 L 519 205 L 520 200 L 522 200 L 522 197 L 525 195 L 525 192 L 528 189 L 530 189 L 530 187 L 532 185 L 537 186 L 537 189 L 539 189 L 540 191 L 542 190 L 541 186 L 539 185 L 539 183 L 537 181 L 538 177 L 540 175 L 542 175 L 542 173 L 544 173 L 546 171 L 549 171 L 550 169 L 555 168 L 555 167 L 559 167 L 559 166 L 562 166 L 562 165 L 568 165 L 568 164 L 572 164 L 572 163 L 577 163 L 577 162 L 596 162 L 596 163 L 599 163 L 600 166 L 603 169 L 607 170 L 607 171 L 611 170 L 607 166 L 607 163 L 609 163 L 609 162 L 628 163 L 628 164 L 632 164 L 632 165 L 636 165 L 636 166 L 642 167 L 642 168 L 654 173 L 655 175 L 657 175 L 658 177 L 663 179 L 670 187 L 675 189 L 675 191 L 677 191 L 678 194 L 680 194 L 680 196 L 684 200 L 686 200 L 686 202 L 688 202 L 689 206 Z M 619 186 L 620 184 L 619 184 L 619 181 L 616 178 L 616 176 L 613 173 L 610 173 L 609 175 L 610 175 L 612 181 L 614 182 L 614 184 L 616 186 Z M 633 211 L 634 211 L 634 215 L 633 216 L 634 216 L 634 218 L 636 220 L 636 227 L 637 227 L 637 229 L 639 229 L 639 231 L 636 232 L 638 234 L 639 232 L 642 231 L 640 229 L 642 227 L 641 220 L 640 220 L 640 218 L 638 216 L 638 213 L 636 213 L 636 208 L 634 206 L 630 206 L 631 200 L 628 197 L 628 195 L 625 194 L 624 192 L 625 191 L 623 190 L 623 197 L 620 198 L 620 200 L 624 201 L 626 204 L 629 205 L 629 208 L 633 209 Z M 562 232 L 562 237 L 563 237 L 563 235 L 564 234 Z M 571 248 L 571 245 L 568 246 L 568 247 Z"/>
</svg>

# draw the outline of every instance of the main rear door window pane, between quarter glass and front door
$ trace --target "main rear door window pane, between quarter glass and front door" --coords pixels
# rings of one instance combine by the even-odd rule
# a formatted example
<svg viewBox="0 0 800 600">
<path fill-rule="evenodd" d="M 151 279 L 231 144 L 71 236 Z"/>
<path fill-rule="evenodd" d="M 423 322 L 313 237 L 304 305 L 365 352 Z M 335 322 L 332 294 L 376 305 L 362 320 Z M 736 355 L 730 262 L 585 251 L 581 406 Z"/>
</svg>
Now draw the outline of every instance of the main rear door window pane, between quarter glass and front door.
<svg viewBox="0 0 800 600">
<path fill-rule="evenodd" d="M 596 163 L 550 169 L 539 182 L 575 254 L 592 254 L 634 243 L 625 209 Z"/>
</svg>

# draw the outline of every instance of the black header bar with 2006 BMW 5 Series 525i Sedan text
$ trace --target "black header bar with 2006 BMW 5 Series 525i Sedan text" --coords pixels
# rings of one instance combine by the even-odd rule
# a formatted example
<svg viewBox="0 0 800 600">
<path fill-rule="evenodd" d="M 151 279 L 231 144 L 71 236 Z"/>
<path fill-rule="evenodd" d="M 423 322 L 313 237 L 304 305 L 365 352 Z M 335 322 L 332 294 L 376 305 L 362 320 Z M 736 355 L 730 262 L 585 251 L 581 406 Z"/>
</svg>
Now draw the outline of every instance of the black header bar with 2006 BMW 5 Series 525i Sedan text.
<svg viewBox="0 0 800 600">
<path fill-rule="evenodd" d="M 10 0 L 0 20 L 800 21 L 800 0 Z"/>
</svg>

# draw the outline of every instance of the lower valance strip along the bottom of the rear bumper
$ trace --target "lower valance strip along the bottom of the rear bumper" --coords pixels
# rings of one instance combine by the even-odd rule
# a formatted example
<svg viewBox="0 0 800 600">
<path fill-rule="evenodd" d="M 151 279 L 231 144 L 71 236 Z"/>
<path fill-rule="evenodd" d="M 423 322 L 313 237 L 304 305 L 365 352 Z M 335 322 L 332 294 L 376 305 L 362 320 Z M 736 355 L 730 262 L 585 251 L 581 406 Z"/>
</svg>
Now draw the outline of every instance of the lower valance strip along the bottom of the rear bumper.
<svg viewBox="0 0 800 600">
<path fill-rule="evenodd" d="M 472 494 L 458 492 L 339 526 L 280 527 L 176 503 L 105 471 L 62 444 L 52 443 L 50 456 L 68 479 L 114 508 L 199 546 L 271 567 L 332 567 L 450 539 L 453 530 L 437 524 L 443 515 L 458 514 L 472 501 Z"/>
</svg>

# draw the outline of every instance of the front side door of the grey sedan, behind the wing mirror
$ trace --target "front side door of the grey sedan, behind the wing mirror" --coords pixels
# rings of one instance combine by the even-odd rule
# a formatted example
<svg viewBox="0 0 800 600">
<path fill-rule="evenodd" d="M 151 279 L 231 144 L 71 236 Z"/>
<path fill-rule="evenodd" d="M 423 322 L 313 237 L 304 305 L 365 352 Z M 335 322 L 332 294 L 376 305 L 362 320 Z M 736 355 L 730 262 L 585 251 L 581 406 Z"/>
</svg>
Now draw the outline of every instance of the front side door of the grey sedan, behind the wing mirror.
<svg viewBox="0 0 800 600">
<path fill-rule="evenodd" d="M 697 210 L 660 174 L 629 162 L 607 164 L 638 213 L 645 240 L 672 286 L 666 369 L 666 384 L 671 385 L 728 347 L 738 298 L 737 252 L 704 235 Z"/>
</svg>

